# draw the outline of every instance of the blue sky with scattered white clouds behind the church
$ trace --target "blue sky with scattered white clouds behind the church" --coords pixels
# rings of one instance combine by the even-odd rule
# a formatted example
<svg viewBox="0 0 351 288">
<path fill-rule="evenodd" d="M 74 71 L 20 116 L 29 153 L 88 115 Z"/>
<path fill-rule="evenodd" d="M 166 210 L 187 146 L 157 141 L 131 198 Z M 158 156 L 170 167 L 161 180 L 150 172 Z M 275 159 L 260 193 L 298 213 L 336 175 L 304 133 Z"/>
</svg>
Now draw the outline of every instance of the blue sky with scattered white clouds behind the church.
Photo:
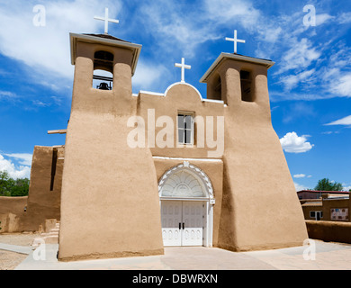
<svg viewBox="0 0 351 288">
<path fill-rule="evenodd" d="M 34 25 L 41 4 L 45 25 Z M 310 4 L 316 12 L 311 23 Z M 206 97 L 200 78 L 226 37 L 246 40 L 238 53 L 269 58 L 272 122 L 296 189 L 328 177 L 351 189 L 351 3 L 344 1 L 20 1 L 0 0 L 0 170 L 29 176 L 35 145 L 65 142 L 73 71 L 69 32 L 103 33 L 104 7 L 119 24 L 109 33 L 142 45 L 133 93 L 165 92 L 180 80 Z"/>
</svg>

